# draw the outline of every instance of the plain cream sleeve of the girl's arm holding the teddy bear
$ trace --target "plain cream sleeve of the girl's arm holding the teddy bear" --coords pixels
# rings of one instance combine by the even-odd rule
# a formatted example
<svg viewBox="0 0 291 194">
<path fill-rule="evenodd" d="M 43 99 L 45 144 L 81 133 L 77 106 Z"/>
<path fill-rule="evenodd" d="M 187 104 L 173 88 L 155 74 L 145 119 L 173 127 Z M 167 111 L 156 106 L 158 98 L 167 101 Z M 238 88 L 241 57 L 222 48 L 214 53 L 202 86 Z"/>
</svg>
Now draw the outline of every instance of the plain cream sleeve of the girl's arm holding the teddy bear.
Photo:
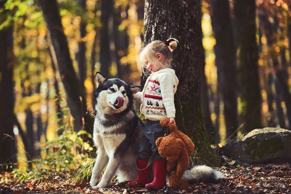
<svg viewBox="0 0 291 194">
<path fill-rule="evenodd" d="M 174 104 L 174 87 L 176 81 L 171 74 L 164 74 L 160 78 L 160 86 L 162 93 L 162 103 L 166 109 L 168 117 L 175 117 L 176 109 Z"/>
</svg>

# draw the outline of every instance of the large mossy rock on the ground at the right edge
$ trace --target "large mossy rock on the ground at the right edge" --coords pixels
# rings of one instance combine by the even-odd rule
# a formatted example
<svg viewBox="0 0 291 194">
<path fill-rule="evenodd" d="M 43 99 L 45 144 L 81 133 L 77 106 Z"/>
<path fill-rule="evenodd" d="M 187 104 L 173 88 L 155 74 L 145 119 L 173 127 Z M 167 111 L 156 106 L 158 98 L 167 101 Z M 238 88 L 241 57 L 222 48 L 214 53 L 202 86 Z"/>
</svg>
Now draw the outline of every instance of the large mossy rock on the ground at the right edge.
<svg viewBox="0 0 291 194">
<path fill-rule="evenodd" d="M 220 148 L 225 156 L 242 163 L 291 162 L 291 131 L 254 129 Z"/>
</svg>

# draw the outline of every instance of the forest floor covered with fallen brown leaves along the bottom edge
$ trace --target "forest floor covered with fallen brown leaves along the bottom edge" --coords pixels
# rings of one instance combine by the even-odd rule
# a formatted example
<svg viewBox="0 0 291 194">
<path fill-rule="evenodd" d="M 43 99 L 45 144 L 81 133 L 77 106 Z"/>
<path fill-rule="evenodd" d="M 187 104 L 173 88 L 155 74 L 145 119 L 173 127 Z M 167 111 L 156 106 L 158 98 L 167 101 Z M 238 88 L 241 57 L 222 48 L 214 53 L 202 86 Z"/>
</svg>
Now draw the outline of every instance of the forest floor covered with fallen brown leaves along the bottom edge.
<svg viewBox="0 0 291 194">
<path fill-rule="evenodd" d="M 231 165 L 217 170 L 226 174 L 226 179 L 215 183 L 194 183 L 189 190 L 165 187 L 157 192 L 136 185 L 112 182 L 107 189 L 93 190 L 89 183 L 72 184 L 64 176 L 55 176 L 53 181 L 36 179 L 25 183 L 9 181 L 10 174 L 0 175 L 6 183 L 0 183 L 0 194 L 291 194 L 291 165 Z M 234 161 L 233 161 L 234 164 Z M 70 172 L 68 172 L 70 173 Z M 63 177 L 63 178 L 62 178 Z"/>
</svg>

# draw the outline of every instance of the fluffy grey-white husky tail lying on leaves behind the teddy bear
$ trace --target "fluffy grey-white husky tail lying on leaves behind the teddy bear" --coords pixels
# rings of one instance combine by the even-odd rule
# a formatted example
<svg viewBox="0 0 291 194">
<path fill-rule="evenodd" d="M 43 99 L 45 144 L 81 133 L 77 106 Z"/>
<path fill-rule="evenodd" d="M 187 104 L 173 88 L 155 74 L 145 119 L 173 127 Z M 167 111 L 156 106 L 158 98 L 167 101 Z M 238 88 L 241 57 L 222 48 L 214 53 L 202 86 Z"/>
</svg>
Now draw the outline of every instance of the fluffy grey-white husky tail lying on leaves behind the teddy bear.
<svg viewBox="0 0 291 194">
<path fill-rule="evenodd" d="M 188 182 L 214 182 L 220 178 L 225 178 L 225 176 L 218 170 L 206 165 L 198 165 L 186 170 L 182 180 Z"/>
</svg>

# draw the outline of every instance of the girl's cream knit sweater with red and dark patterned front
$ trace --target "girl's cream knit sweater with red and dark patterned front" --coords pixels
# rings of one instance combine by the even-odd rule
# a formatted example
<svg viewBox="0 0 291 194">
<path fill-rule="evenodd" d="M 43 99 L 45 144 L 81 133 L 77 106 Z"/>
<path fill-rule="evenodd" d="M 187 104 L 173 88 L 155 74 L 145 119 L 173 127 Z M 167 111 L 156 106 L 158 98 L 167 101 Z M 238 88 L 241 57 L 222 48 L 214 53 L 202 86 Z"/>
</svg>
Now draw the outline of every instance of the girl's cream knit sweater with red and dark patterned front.
<svg viewBox="0 0 291 194">
<path fill-rule="evenodd" d="M 175 117 L 174 94 L 178 83 L 175 71 L 170 68 L 161 69 L 147 78 L 141 97 L 141 112 L 146 119 Z"/>
</svg>

